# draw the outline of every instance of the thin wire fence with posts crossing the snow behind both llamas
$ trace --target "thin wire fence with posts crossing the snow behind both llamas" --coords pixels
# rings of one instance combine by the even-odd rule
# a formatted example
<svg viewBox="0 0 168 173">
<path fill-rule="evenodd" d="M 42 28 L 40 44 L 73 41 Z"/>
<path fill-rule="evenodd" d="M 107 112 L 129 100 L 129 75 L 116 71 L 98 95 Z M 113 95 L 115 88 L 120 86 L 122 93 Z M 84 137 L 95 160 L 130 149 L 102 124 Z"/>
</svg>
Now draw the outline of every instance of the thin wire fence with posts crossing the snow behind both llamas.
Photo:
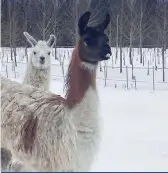
<svg viewBox="0 0 168 173">
<path fill-rule="evenodd" d="M 13 62 L 1 63 L 1 75 L 7 78 L 24 77 L 26 62 L 17 62 L 16 67 Z M 65 81 L 68 65 L 51 64 L 51 79 Z M 162 68 L 154 67 L 120 67 L 110 65 L 99 65 L 97 69 L 97 83 L 105 87 L 122 89 L 148 89 L 148 90 L 168 90 L 168 68 L 165 68 L 166 80 L 162 80 Z M 133 74 L 132 74 L 133 73 Z"/>
</svg>

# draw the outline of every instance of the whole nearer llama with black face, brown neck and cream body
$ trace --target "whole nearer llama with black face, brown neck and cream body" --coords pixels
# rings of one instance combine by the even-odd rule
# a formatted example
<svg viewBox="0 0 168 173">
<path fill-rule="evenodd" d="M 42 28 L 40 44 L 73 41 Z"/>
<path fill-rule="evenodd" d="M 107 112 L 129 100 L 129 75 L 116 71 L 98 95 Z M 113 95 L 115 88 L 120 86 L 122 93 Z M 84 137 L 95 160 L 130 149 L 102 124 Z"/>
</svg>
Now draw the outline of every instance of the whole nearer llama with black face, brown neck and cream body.
<svg viewBox="0 0 168 173">
<path fill-rule="evenodd" d="M 28 171 L 89 171 L 99 147 L 96 69 L 111 50 L 104 33 L 110 16 L 88 27 L 78 22 L 79 41 L 66 80 L 65 99 L 28 85 L 1 79 L 2 146 Z"/>
</svg>

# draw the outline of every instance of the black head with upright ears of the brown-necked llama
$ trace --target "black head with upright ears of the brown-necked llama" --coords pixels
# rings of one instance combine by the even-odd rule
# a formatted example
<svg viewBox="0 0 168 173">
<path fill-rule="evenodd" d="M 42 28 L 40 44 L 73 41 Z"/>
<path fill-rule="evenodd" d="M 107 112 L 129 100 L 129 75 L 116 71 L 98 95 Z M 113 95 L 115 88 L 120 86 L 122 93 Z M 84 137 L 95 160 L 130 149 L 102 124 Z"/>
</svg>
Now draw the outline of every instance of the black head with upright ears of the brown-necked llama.
<svg viewBox="0 0 168 173">
<path fill-rule="evenodd" d="M 81 61 L 89 66 L 97 65 L 99 61 L 108 60 L 111 55 L 108 36 L 104 33 L 110 22 L 107 13 L 102 23 L 94 27 L 87 26 L 91 13 L 85 12 L 79 19 L 79 56 Z"/>
</svg>

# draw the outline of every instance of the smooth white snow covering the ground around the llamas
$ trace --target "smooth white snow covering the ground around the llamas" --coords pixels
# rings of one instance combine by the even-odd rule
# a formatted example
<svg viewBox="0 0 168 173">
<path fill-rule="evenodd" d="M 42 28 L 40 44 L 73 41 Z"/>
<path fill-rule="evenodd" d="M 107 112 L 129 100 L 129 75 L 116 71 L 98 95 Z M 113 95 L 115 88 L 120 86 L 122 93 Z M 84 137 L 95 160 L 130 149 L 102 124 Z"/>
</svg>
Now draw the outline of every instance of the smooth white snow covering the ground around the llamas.
<svg viewBox="0 0 168 173">
<path fill-rule="evenodd" d="M 53 73 L 58 74 L 52 77 L 50 90 L 64 95 L 61 66 L 54 63 Z M 18 64 L 15 70 L 19 73 L 15 76 L 10 64 L 7 63 L 8 77 L 21 82 L 25 65 Z M 6 63 L 1 62 L 3 76 L 4 67 Z M 108 73 L 114 77 L 112 72 Z M 141 73 L 137 76 L 148 81 Z M 159 77 L 157 80 L 161 81 Z M 149 88 L 150 82 L 138 90 L 115 89 L 110 84 L 104 87 L 104 80 L 97 83 L 103 128 L 100 151 L 91 171 L 168 171 L 167 83 L 156 91 Z M 116 84 L 119 85 L 118 81 Z"/>
</svg>

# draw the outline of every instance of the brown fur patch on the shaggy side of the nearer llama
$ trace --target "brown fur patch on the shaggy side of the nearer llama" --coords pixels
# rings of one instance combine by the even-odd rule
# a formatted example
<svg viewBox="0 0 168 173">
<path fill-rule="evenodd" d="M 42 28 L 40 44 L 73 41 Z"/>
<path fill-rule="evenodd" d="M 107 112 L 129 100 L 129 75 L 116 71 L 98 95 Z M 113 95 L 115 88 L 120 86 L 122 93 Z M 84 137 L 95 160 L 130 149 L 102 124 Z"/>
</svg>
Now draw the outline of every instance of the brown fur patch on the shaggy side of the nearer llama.
<svg viewBox="0 0 168 173">
<path fill-rule="evenodd" d="M 26 153 L 32 153 L 34 141 L 36 139 L 38 119 L 29 115 L 26 122 L 21 129 L 21 141 L 20 149 L 24 150 Z"/>
</svg>

